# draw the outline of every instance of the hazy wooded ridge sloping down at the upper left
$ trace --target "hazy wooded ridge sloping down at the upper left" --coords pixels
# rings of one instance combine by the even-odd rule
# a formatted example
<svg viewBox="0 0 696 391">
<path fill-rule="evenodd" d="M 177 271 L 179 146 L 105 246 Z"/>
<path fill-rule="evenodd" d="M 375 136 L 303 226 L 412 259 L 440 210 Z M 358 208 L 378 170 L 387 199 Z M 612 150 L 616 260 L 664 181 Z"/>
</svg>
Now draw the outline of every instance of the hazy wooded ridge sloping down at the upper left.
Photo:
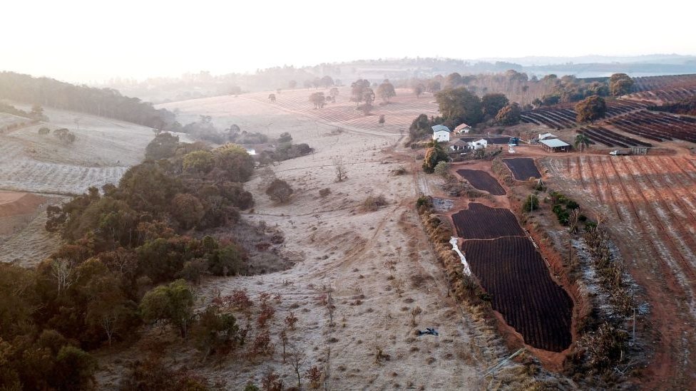
<svg viewBox="0 0 696 391">
<path fill-rule="evenodd" d="M 115 118 L 156 129 L 176 126 L 175 115 L 111 88 L 72 85 L 51 78 L 0 72 L 0 98 Z"/>
</svg>

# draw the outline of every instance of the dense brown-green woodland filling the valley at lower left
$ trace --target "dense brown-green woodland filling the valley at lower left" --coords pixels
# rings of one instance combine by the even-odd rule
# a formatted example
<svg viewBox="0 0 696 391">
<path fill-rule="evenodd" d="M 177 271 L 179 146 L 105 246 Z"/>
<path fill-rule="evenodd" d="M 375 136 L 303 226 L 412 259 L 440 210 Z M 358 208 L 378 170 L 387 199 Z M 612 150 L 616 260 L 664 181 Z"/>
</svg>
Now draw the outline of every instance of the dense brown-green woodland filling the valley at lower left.
<svg viewBox="0 0 696 391">
<path fill-rule="evenodd" d="M 237 145 L 177 154 L 187 149 L 131 167 L 118 187 L 49 207 L 46 229 L 66 244 L 36 269 L 0 264 L 0 388 L 92 389 L 96 362 L 86 352 L 133 338 L 143 323 L 198 333 L 202 345 L 210 328 L 235 333 L 229 314 L 194 315 L 189 283 L 245 271 L 240 244 L 201 231 L 235 224 L 252 206 L 242 182 L 254 162 Z"/>
</svg>

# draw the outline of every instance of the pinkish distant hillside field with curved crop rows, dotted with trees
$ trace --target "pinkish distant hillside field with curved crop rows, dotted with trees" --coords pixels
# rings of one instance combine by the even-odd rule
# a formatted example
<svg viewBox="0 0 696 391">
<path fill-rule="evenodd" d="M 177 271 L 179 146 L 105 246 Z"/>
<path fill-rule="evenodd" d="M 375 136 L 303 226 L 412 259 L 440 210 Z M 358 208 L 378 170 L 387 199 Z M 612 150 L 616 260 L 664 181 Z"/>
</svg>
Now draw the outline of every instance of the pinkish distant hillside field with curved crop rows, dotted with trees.
<svg viewBox="0 0 696 391">
<path fill-rule="evenodd" d="M 330 125 L 387 134 L 408 132 L 411 122 L 418 115 L 438 115 L 438 107 L 431 95 L 416 98 L 416 95 L 407 89 L 397 89 L 396 97 L 391 98 L 391 102 L 386 105 L 382 105 L 379 98 L 375 100 L 370 115 L 364 115 L 362 110 L 357 110 L 356 103 L 349 101 L 350 88 L 348 87 L 339 88 L 336 103 L 327 103 L 323 108 L 317 109 L 309 102 L 309 95 L 314 92 L 323 92 L 328 95 L 329 90 L 286 90 L 275 94 L 275 102 L 270 102 L 269 93 L 252 93 L 240 95 L 239 98 L 275 105 L 291 113 L 307 115 Z M 379 123 L 380 115 L 384 115 L 384 124 Z"/>
</svg>

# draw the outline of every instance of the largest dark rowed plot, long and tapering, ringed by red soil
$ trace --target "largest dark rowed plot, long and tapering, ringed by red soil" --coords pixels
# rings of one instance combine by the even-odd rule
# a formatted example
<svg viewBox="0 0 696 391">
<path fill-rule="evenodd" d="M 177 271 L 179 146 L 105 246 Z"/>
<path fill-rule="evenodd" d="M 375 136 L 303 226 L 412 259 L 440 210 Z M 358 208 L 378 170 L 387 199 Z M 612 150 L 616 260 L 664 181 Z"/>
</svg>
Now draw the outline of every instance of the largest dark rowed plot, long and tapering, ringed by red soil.
<svg viewBox="0 0 696 391">
<path fill-rule="evenodd" d="M 511 236 L 464 241 L 471 271 L 502 314 L 535 348 L 561 352 L 571 343 L 573 301 L 556 285 L 529 239 Z"/>
</svg>

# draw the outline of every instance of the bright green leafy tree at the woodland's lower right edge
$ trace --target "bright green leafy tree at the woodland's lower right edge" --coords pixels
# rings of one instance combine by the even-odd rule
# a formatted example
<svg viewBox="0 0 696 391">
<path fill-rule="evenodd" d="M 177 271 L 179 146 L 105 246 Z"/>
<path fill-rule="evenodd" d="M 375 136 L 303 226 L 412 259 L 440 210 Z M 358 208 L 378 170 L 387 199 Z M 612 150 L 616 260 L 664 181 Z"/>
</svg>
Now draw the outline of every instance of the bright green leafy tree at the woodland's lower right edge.
<svg viewBox="0 0 696 391">
<path fill-rule="evenodd" d="M 184 280 L 176 280 L 169 285 L 161 285 L 145 293 L 140 301 L 143 320 L 153 323 L 165 320 L 180 331 L 183 338 L 193 320 L 193 291 Z"/>
</svg>

